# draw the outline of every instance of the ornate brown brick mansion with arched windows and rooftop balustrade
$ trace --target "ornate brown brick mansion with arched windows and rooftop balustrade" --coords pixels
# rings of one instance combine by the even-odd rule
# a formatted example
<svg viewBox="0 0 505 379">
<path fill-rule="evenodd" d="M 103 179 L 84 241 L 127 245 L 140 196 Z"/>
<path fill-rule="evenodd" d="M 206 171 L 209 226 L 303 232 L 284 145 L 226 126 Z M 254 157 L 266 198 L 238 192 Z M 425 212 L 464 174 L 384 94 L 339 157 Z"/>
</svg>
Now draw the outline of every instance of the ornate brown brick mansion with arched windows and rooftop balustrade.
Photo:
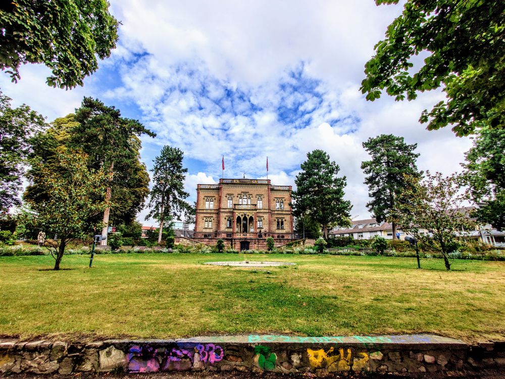
<svg viewBox="0 0 505 379">
<path fill-rule="evenodd" d="M 198 184 L 193 240 L 215 245 L 222 239 L 236 250 L 266 249 L 294 239 L 291 186 L 269 179 L 219 179 Z"/>
</svg>

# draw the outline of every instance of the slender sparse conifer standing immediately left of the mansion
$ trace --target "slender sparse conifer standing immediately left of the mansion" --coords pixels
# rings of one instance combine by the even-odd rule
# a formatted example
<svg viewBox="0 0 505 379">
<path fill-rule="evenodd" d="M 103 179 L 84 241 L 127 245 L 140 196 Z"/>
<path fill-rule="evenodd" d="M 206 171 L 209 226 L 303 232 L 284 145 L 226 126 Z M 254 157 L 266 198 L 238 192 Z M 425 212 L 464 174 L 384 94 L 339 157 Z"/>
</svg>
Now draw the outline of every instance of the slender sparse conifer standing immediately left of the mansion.
<svg viewBox="0 0 505 379">
<path fill-rule="evenodd" d="M 153 169 L 153 189 L 150 192 L 148 220 L 154 217 L 160 223 L 158 242 L 161 242 L 163 223 L 168 217 L 181 217 L 190 211 L 185 201 L 189 194 L 184 191 L 184 179 L 187 168 L 182 167 L 184 153 L 178 148 L 165 146 L 156 157 Z"/>
</svg>

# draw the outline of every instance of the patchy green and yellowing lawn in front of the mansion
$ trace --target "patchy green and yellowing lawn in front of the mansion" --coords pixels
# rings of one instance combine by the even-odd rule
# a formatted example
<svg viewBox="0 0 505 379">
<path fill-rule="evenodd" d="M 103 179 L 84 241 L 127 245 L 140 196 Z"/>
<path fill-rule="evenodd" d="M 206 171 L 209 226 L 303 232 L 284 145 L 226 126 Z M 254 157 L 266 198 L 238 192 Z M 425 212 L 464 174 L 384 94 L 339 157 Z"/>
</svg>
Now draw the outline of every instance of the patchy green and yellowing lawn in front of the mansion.
<svg viewBox="0 0 505 379">
<path fill-rule="evenodd" d="M 203 265 L 277 260 L 268 271 Z M 505 262 L 328 255 L 0 257 L 0 336 L 434 333 L 505 338 Z"/>
</svg>

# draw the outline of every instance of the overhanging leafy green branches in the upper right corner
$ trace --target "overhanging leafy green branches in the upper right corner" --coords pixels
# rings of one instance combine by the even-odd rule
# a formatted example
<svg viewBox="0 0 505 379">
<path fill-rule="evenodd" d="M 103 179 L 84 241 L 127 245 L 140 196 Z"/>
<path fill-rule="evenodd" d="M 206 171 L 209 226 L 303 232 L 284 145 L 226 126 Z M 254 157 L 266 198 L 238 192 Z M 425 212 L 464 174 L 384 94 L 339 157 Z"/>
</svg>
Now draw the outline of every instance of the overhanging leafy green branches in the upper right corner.
<svg viewBox="0 0 505 379">
<path fill-rule="evenodd" d="M 376 4 L 398 0 L 376 0 Z M 375 45 L 361 90 L 367 100 L 386 89 L 395 99 L 443 88 L 446 101 L 425 110 L 428 129 L 453 125 L 459 136 L 505 125 L 505 2 L 502 0 L 407 0 L 401 16 Z M 427 53 L 418 68 L 420 53 Z"/>
</svg>

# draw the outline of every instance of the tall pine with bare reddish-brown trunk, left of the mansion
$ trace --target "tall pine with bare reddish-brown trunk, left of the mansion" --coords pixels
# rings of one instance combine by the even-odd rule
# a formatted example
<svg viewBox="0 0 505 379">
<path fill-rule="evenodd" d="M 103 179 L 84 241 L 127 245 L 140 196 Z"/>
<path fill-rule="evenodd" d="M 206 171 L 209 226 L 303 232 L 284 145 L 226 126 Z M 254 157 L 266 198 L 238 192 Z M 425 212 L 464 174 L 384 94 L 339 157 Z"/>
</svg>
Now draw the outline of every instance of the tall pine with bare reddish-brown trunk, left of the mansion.
<svg viewBox="0 0 505 379">
<path fill-rule="evenodd" d="M 89 155 L 90 169 L 105 167 L 109 175 L 107 202 L 117 201 L 130 214 L 140 210 L 148 192 L 148 176 L 143 173 L 145 166 L 139 163 L 141 147 L 138 136 L 155 133 L 146 129 L 139 121 L 121 117 L 115 107 L 108 107 L 98 99 L 84 98 L 76 110 L 75 121 L 79 124 L 72 129 L 69 146 L 81 148 Z M 132 172 L 137 175 L 131 175 Z M 135 185 L 127 184 L 134 179 Z M 129 189 L 134 188 L 133 193 Z M 113 198 L 113 192 L 117 194 Z M 107 235 L 111 208 L 104 212 L 102 230 Z M 122 220 L 121 220 L 122 221 Z M 130 221 L 132 221 L 130 219 Z M 107 241 L 102 241 L 107 245 Z"/>
</svg>

